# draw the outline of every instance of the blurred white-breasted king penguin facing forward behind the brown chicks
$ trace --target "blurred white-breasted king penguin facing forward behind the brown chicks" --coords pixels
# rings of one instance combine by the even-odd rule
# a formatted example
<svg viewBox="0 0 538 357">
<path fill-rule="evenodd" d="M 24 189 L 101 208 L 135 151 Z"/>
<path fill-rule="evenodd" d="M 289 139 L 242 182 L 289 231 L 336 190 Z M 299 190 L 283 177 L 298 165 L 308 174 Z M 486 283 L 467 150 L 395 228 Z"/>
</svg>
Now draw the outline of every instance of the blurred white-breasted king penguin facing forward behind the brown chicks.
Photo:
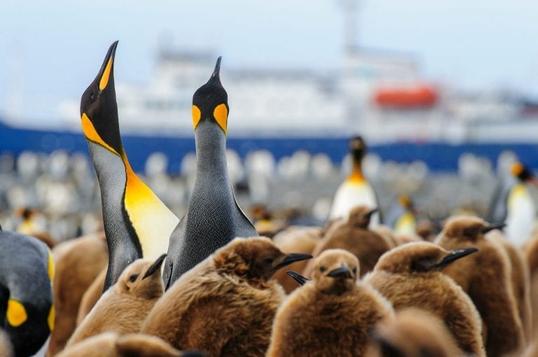
<svg viewBox="0 0 538 357">
<path fill-rule="evenodd" d="M 379 207 L 373 187 L 362 174 L 362 159 L 366 155 L 366 144 L 361 137 L 352 137 L 349 146 L 353 163 L 352 172 L 336 190 L 329 220 L 347 218 L 350 211 L 359 205 Z M 380 214 L 377 213 L 372 216 L 371 226 L 379 224 Z"/>
</svg>

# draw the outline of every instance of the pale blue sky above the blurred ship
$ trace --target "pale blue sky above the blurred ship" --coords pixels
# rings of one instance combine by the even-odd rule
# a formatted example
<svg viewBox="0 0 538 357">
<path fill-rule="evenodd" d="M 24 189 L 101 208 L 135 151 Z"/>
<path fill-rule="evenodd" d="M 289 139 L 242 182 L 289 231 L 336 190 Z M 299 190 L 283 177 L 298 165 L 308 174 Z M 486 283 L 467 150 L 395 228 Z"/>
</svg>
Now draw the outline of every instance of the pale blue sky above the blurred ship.
<svg viewBox="0 0 538 357">
<path fill-rule="evenodd" d="M 0 0 L 0 116 L 57 120 L 119 40 L 116 81 L 145 83 L 160 43 L 230 68 L 338 69 L 344 0 Z M 360 0 L 359 45 L 415 55 L 425 78 L 538 94 L 538 1 Z"/>
</svg>

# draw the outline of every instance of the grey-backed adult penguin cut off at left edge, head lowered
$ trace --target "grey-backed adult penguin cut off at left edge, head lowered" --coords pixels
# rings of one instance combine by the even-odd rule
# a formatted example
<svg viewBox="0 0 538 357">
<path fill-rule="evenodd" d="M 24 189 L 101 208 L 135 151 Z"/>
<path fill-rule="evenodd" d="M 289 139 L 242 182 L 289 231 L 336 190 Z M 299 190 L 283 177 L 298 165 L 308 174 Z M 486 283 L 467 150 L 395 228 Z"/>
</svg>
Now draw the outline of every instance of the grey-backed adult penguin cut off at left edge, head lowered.
<svg viewBox="0 0 538 357">
<path fill-rule="evenodd" d="M 39 239 L 0 230 L 0 328 L 32 356 L 54 328 L 53 255 Z"/>
</svg>

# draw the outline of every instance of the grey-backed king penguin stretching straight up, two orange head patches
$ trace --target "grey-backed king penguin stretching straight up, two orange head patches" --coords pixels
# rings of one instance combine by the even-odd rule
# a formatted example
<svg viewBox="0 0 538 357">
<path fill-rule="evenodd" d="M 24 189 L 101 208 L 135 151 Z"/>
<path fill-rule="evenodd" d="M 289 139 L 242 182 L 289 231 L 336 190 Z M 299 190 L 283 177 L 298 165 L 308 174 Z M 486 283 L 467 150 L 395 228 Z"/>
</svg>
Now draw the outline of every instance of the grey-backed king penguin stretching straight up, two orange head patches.
<svg viewBox="0 0 538 357">
<path fill-rule="evenodd" d="M 221 57 L 207 83 L 193 96 L 196 178 L 187 212 L 170 236 L 163 273 L 166 288 L 233 238 L 258 235 L 235 201 L 228 177 L 228 94 L 220 69 Z"/>
</svg>

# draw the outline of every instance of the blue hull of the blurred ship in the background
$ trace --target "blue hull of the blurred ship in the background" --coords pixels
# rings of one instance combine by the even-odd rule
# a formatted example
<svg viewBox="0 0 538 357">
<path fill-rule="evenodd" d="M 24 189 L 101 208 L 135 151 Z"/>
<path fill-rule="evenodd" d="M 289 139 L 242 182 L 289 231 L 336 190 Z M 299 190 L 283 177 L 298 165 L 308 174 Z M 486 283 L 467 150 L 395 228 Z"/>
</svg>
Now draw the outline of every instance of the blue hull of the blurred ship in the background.
<svg viewBox="0 0 538 357">
<path fill-rule="evenodd" d="M 142 171 L 146 159 L 156 151 L 169 158 L 168 171 L 179 174 L 181 159 L 195 151 L 194 137 L 159 137 L 123 135 L 123 146 L 133 169 Z M 333 162 L 339 163 L 347 153 L 347 137 L 228 137 L 228 148 L 244 158 L 251 151 L 268 150 L 276 160 L 292 155 L 298 150 L 311 154 L 326 153 Z M 51 153 L 64 150 L 68 153 L 88 155 L 88 146 L 82 133 L 33 130 L 11 127 L 0 122 L 0 153 L 19 155 L 23 151 Z M 536 166 L 538 146 L 535 144 L 443 144 L 443 143 L 396 143 L 369 146 L 368 151 L 382 160 L 412 162 L 422 160 L 434 172 L 455 172 L 462 153 L 490 159 L 494 164 L 499 153 L 511 150 L 530 167 Z"/>
</svg>

